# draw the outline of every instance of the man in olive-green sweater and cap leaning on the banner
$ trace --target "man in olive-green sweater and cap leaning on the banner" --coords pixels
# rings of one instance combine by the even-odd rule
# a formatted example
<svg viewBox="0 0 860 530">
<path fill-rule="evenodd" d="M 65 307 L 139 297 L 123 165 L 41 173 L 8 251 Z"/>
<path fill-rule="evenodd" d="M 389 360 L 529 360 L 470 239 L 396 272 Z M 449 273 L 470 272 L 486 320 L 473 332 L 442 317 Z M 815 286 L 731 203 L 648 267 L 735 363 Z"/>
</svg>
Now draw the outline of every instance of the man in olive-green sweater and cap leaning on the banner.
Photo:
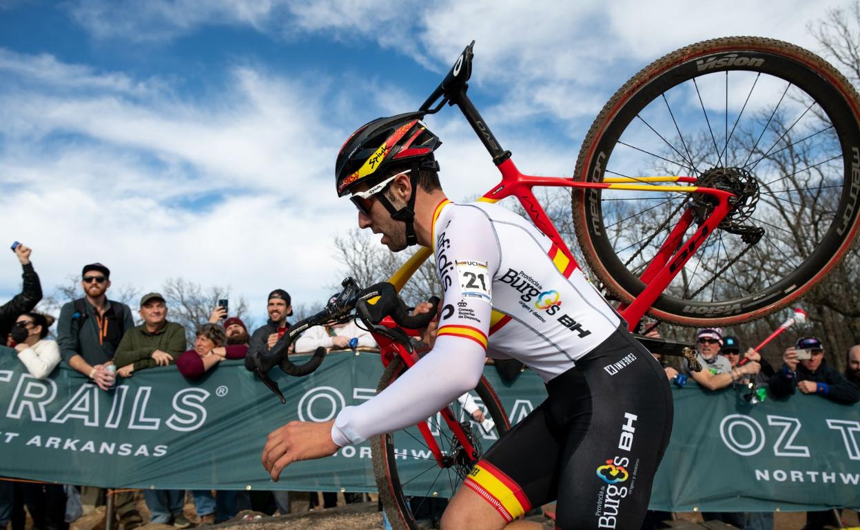
<svg viewBox="0 0 860 530">
<path fill-rule="evenodd" d="M 175 364 L 175 358 L 186 350 L 185 328 L 167 320 L 167 304 L 162 295 L 149 293 L 140 299 L 140 318 L 144 323 L 123 335 L 114 354 L 120 377 Z"/>
</svg>

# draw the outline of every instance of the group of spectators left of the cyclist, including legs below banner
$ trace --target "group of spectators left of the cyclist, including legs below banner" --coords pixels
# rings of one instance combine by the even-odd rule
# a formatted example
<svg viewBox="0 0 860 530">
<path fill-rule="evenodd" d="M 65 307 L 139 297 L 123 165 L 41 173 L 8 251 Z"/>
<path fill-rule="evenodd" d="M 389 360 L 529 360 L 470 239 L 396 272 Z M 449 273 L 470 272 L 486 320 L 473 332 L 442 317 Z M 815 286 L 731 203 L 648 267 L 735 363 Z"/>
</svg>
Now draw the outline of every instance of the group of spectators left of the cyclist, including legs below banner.
<svg viewBox="0 0 860 530">
<path fill-rule="evenodd" d="M 175 365 L 188 380 L 200 379 L 217 369 L 227 359 L 243 359 L 249 344 L 265 344 L 271 348 L 290 328 L 287 317 L 292 315 L 291 297 L 285 289 L 274 289 L 267 297 L 266 324 L 249 332 L 242 319 L 227 314 L 226 308 L 212 310 L 209 321 L 194 333 L 194 344 L 186 343 L 184 326 L 169 320 L 167 300 L 157 292 L 140 298 L 137 309 L 141 323 L 135 326 L 132 308 L 110 300 L 111 271 L 106 265 L 84 265 L 81 271 L 83 297 L 67 302 L 60 309 L 56 338 L 48 337 L 54 322 L 51 315 L 34 311 L 42 299 L 38 274 L 30 262 L 32 250 L 24 245 L 15 247 L 23 268 L 22 292 L 0 307 L 0 333 L 5 344 L 13 348 L 28 370 L 37 379 L 52 375 L 60 363 L 86 376 L 101 390 L 110 390 L 117 378 L 130 378 L 140 370 Z M 316 326 L 304 332 L 296 353 L 324 347 L 327 350 L 354 349 L 356 344 L 375 348 L 369 332 L 347 322 L 338 326 Z M 105 492 L 89 489 L 85 495 L 103 502 Z M 117 490 L 114 513 L 124 530 L 144 524 L 138 512 L 134 490 Z M 292 507 L 313 508 L 314 495 L 286 491 L 194 490 L 199 526 L 228 521 L 242 509 L 273 515 L 287 514 Z M 193 525 L 183 513 L 186 491 L 144 490 L 150 521 L 176 528 Z M 75 486 L 60 484 L 30 484 L 0 478 L 0 530 L 12 524 L 13 530 L 24 530 L 24 507 L 34 521 L 36 530 L 64 530 L 69 496 L 79 498 Z M 295 500 L 298 498 L 299 502 Z M 336 497 L 325 495 L 325 505 L 334 505 Z M 347 495 L 347 502 L 360 502 L 361 497 Z"/>
</svg>

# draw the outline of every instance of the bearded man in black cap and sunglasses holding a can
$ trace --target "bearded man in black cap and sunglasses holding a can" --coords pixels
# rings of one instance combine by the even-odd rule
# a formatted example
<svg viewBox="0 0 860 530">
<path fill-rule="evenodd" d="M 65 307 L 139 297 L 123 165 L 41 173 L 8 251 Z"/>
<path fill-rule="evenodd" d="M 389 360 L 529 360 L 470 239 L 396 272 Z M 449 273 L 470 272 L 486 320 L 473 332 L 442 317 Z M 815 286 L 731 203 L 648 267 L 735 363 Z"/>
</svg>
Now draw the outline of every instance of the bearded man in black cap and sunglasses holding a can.
<svg viewBox="0 0 860 530">
<path fill-rule="evenodd" d="M 114 384 L 107 365 L 126 330 L 134 327 L 132 310 L 107 300 L 110 270 L 105 265 L 84 265 L 81 277 L 84 296 L 60 309 L 57 343 L 64 362 L 107 390 Z"/>
</svg>

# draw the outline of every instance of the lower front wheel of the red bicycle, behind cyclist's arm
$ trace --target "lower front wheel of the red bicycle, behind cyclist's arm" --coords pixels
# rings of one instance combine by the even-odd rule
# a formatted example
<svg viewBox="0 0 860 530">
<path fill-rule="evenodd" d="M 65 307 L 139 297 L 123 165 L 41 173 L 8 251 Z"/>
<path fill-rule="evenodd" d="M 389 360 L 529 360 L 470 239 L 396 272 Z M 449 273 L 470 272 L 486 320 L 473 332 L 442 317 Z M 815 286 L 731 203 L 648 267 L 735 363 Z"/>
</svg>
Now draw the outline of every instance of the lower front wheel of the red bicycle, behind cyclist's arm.
<svg viewBox="0 0 860 530">
<path fill-rule="evenodd" d="M 379 380 L 377 391 L 384 390 L 404 371 L 402 359 L 391 361 Z M 479 399 L 476 399 L 476 404 L 482 405 L 484 415 L 493 420 L 493 429 L 483 431 L 457 401 L 451 404 L 451 410 L 454 417 L 464 425 L 480 458 L 482 449 L 489 448 L 510 429 L 510 423 L 501 401 L 484 377 L 471 394 L 473 399 L 477 394 Z M 439 507 L 442 499 L 451 498 L 478 460 L 465 454 L 440 414 L 427 419 L 427 425 L 445 455 L 444 467 L 440 467 L 433 458 L 416 427 L 375 436 L 371 441 L 373 472 L 379 498 L 395 530 L 417 530 L 416 520 L 428 518 L 430 512 Z"/>
</svg>

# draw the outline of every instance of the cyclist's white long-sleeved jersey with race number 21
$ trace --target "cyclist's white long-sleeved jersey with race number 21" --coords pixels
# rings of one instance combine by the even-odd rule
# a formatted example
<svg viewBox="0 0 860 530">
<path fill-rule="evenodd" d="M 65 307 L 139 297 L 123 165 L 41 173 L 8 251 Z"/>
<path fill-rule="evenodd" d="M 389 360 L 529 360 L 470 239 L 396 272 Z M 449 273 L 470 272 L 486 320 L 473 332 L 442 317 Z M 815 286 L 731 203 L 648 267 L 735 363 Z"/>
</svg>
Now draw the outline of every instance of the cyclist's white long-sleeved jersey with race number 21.
<svg viewBox="0 0 860 530">
<path fill-rule="evenodd" d="M 338 445 L 420 422 L 474 388 L 484 357 L 511 357 L 550 381 L 617 330 L 621 319 L 530 221 L 497 204 L 433 214 L 445 290 L 436 342 L 390 387 L 338 415 Z"/>
</svg>

